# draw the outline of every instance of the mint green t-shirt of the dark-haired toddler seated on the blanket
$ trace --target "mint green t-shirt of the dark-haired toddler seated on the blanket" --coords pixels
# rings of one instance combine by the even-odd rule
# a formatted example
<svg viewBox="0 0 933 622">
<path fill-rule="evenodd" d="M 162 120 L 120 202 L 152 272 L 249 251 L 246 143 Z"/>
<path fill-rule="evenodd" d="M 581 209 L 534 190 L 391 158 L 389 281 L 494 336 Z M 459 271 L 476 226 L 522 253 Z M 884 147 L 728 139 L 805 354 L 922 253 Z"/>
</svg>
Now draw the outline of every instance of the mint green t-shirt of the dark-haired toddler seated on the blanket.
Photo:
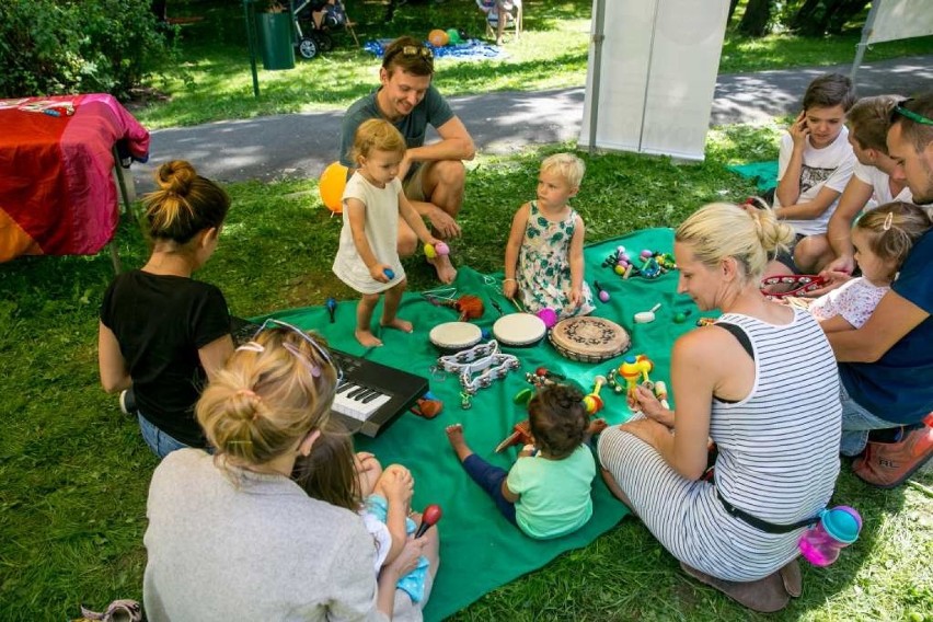
<svg viewBox="0 0 933 622">
<path fill-rule="evenodd" d="M 508 489 L 521 495 L 515 518 L 532 538 L 565 535 L 583 527 L 592 516 L 590 489 L 596 461 L 585 445 L 563 460 L 540 456 L 519 458 L 508 472 Z"/>
</svg>

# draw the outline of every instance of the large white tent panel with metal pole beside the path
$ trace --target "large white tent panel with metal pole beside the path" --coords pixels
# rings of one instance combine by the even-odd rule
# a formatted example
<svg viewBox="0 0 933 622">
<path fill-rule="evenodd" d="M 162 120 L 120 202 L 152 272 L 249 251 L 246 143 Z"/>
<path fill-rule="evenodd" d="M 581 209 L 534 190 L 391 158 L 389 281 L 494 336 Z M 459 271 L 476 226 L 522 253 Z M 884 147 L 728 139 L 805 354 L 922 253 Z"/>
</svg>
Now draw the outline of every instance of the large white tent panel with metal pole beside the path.
<svg viewBox="0 0 933 622">
<path fill-rule="evenodd" d="M 596 116 L 600 149 L 702 160 L 728 0 L 601 2 L 606 38 L 589 57 L 580 146 Z"/>
</svg>

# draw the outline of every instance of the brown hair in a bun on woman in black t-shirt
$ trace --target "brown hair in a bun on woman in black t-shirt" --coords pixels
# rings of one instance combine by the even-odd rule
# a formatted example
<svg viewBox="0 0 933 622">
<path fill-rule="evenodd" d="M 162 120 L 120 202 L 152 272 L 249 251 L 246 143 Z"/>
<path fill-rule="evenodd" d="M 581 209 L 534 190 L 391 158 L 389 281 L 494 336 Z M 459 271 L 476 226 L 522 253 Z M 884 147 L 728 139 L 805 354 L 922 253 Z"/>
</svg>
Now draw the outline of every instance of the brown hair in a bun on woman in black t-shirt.
<svg viewBox="0 0 933 622">
<path fill-rule="evenodd" d="M 156 172 L 159 188 L 142 198 L 152 240 L 187 244 L 205 229 L 220 228 L 230 209 L 223 188 L 197 174 L 184 160 L 173 160 Z"/>
</svg>

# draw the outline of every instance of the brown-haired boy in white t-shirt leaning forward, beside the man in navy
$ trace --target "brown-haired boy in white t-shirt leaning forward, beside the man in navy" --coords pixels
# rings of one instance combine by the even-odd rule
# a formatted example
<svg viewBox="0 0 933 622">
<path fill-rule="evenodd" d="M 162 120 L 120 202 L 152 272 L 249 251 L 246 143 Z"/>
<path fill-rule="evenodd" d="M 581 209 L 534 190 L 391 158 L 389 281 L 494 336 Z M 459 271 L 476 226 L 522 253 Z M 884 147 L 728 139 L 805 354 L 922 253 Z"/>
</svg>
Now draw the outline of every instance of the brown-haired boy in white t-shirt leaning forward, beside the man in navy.
<svg viewBox="0 0 933 622">
<path fill-rule="evenodd" d="M 849 111 L 846 125 L 849 142 L 855 153 L 855 168 L 829 219 L 826 233 L 807 235 L 797 244 L 794 263 L 802 273 L 828 270 L 852 274 L 855 250 L 851 229 L 855 217 L 863 210 L 891 201 L 913 201 L 907 184 L 902 180 L 890 178 L 896 163 L 888 156 L 886 142 L 891 110 L 902 99 L 896 95 L 863 97 Z"/>
</svg>

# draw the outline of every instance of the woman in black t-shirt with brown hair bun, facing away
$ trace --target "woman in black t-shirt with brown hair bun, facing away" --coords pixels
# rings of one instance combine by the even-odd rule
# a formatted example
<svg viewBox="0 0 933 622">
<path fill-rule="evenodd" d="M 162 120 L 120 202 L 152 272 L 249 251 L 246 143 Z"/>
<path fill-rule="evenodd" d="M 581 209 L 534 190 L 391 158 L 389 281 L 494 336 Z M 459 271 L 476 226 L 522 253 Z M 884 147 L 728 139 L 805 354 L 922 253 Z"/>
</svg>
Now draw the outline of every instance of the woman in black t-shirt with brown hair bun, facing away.
<svg viewBox="0 0 933 622">
<path fill-rule="evenodd" d="M 117 275 L 101 304 L 97 356 L 108 393 L 133 390 L 142 438 L 164 458 L 206 447 L 194 417 L 201 388 L 233 353 L 220 290 L 194 280 L 217 249 L 230 198 L 188 162 L 162 164 L 143 199 L 152 254 Z"/>
</svg>

